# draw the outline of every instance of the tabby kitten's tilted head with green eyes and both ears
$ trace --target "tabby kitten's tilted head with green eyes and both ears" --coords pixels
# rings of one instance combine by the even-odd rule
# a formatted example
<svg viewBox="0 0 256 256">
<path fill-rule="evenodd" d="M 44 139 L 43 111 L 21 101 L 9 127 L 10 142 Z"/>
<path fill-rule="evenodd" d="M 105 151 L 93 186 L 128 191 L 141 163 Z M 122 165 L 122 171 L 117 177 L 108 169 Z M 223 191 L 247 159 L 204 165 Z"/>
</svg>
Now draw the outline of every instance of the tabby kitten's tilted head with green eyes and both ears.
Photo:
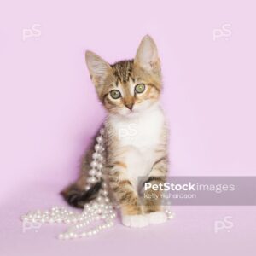
<svg viewBox="0 0 256 256">
<path fill-rule="evenodd" d="M 96 92 L 109 113 L 132 116 L 159 101 L 160 59 L 154 40 L 145 36 L 134 60 L 108 64 L 86 51 L 85 59 Z"/>
</svg>

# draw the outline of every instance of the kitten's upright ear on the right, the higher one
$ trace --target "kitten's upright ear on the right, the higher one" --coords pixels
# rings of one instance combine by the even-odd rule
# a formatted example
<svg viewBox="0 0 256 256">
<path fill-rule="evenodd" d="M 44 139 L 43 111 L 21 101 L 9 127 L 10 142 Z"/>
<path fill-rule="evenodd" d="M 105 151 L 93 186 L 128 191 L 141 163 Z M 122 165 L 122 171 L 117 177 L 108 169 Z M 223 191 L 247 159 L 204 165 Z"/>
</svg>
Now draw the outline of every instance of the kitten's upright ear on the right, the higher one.
<svg viewBox="0 0 256 256">
<path fill-rule="evenodd" d="M 160 69 L 160 58 L 153 38 L 146 35 L 137 49 L 134 62 L 148 72 Z"/>
</svg>

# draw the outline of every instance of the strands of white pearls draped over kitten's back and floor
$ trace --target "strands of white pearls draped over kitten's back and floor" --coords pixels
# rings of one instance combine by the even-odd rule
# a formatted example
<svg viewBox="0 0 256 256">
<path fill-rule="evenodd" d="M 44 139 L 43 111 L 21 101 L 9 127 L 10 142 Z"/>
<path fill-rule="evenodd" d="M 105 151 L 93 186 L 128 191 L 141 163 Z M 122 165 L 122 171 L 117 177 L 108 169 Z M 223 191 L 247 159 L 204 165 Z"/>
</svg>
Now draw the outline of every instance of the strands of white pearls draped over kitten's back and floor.
<svg viewBox="0 0 256 256">
<path fill-rule="evenodd" d="M 113 226 L 113 220 L 116 218 L 113 204 L 108 197 L 107 184 L 104 182 L 103 166 L 105 163 L 105 148 L 103 139 L 104 129 L 100 130 L 100 135 L 96 138 L 95 152 L 92 154 L 90 163 L 91 169 L 87 178 L 86 190 L 89 190 L 91 185 L 103 180 L 102 189 L 94 201 L 85 204 L 84 210 L 81 213 L 72 212 L 64 207 L 52 207 L 48 211 L 28 212 L 21 217 L 22 221 L 38 224 L 67 224 L 69 227 L 61 233 L 59 239 L 73 239 L 85 236 L 93 236 L 102 230 L 106 230 Z M 167 218 L 173 218 L 172 212 L 166 209 Z M 90 224 L 101 222 L 98 226 L 85 230 Z"/>
</svg>

